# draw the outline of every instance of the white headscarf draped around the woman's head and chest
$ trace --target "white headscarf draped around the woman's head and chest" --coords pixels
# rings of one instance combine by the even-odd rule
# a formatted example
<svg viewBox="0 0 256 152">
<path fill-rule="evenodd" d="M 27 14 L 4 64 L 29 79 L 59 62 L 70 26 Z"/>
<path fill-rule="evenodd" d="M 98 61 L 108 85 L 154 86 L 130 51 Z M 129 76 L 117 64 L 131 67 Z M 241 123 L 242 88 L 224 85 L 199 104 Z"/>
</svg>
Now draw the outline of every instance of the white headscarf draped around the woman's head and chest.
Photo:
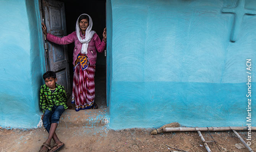
<svg viewBox="0 0 256 152">
<path fill-rule="evenodd" d="M 80 36 L 80 27 L 79 27 L 79 17 L 81 15 L 87 15 L 89 17 L 89 26 L 86 28 L 86 31 L 85 31 L 85 39 L 82 39 L 81 36 Z M 92 30 L 92 18 L 91 16 L 89 16 L 88 14 L 81 14 L 77 21 L 76 21 L 76 36 L 78 38 L 78 40 L 83 43 L 82 45 L 82 49 L 81 49 L 81 53 L 83 54 L 87 54 L 87 48 L 88 48 L 88 44 L 89 42 L 91 41 L 92 39 L 92 36 L 94 35 L 94 31 Z"/>
</svg>

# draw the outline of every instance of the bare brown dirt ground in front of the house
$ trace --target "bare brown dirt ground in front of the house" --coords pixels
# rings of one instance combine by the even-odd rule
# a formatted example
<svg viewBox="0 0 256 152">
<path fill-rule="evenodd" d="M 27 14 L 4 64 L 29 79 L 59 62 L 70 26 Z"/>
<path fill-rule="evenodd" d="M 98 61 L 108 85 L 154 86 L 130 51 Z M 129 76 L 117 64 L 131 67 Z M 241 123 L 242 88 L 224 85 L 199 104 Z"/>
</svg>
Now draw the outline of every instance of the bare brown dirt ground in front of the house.
<svg viewBox="0 0 256 152">
<path fill-rule="evenodd" d="M 168 146 L 188 152 L 206 152 L 203 142 L 196 132 L 169 132 L 150 135 L 152 129 L 110 130 L 100 127 L 57 128 L 57 135 L 65 147 L 60 152 L 170 152 Z M 240 140 L 232 131 L 202 132 L 212 152 L 248 152 L 237 149 Z M 245 140 L 246 131 L 238 131 Z M 44 128 L 33 130 L 0 129 L 0 152 L 37 152 L 47 139 Z M 213 139 L 212 139 L 212 137 Z M 252 145 L 256 151 L 256 132 L 252 132 Z M 52 141 L 53 144 L 53 141 Z M 168 146 L 166 146 L 168 145 Z M 179 151 L 179 150 L 175 150 Z"/>
</svg>

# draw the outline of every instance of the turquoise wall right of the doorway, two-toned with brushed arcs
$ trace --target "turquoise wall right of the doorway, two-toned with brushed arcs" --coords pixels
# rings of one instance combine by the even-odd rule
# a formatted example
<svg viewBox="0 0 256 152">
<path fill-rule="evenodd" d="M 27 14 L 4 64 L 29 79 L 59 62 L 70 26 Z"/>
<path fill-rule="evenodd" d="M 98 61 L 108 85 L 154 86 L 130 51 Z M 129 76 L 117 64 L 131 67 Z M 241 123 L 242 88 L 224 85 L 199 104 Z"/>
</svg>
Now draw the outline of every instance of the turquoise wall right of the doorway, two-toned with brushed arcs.
<svg viewBox="0 0 256 152">
<path fill-rule="evenodd" d="M 107 4 L 112 13 L 112 24 L 107 19 L 110 128 L 170 122 L 246 125 L 246 59 L 252 59 L 254 76 L 256 15 L 236 15 L 241 26 L 234 26 L 234 14 L 221 10 L 236 7 L 237 0 L 108 0 Z M 245 1 L 245 9 L 255 8 L 256 1 Z M 235 42 L 233 32 L 238 34 Z M 255 97 L 253 93 L 253 109 Z M 256 117 L 252 119 L 256 125 Z"/>
</svg>

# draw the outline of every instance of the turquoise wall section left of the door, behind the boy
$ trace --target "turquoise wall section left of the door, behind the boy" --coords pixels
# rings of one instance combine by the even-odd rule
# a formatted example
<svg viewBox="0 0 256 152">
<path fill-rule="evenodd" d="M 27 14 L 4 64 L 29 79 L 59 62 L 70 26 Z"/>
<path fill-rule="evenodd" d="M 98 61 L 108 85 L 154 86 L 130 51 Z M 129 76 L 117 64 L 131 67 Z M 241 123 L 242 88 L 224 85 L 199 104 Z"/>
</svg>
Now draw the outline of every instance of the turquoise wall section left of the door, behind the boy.
<svg viewBox="0 0 256 152">
<path fill-rule="evenodd" d="M 34 128 L 45 71 L 38 1 L 0 0 L 0 14 L 0 126 Z"/>
</svg>

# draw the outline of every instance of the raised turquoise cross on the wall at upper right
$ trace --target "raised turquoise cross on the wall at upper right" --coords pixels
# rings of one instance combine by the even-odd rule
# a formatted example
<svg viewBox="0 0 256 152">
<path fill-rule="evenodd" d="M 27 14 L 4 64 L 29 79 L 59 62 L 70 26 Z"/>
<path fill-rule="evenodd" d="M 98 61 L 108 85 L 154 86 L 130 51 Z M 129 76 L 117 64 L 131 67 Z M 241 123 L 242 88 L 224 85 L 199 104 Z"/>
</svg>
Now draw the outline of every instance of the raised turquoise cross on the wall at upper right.
<svg viewBox="0 0 256 152">
<path fill-rule="evenodd" d="M 230 41 L 235 42 L 237 40 L 238 34 L 240 32 L 241 23 L 242 23 L 244 14 L 256 15 L 256 10 L 245 9 L 245 0 L 238 0 L 237 6 L 235 6 L 233 8 L 223 7 L 221 9 L 221 13 L 234 14 L 235 18 L 233 21 L 232 31 L 231 31 L 231 35 L 230 35 Z"/>
</svg>

